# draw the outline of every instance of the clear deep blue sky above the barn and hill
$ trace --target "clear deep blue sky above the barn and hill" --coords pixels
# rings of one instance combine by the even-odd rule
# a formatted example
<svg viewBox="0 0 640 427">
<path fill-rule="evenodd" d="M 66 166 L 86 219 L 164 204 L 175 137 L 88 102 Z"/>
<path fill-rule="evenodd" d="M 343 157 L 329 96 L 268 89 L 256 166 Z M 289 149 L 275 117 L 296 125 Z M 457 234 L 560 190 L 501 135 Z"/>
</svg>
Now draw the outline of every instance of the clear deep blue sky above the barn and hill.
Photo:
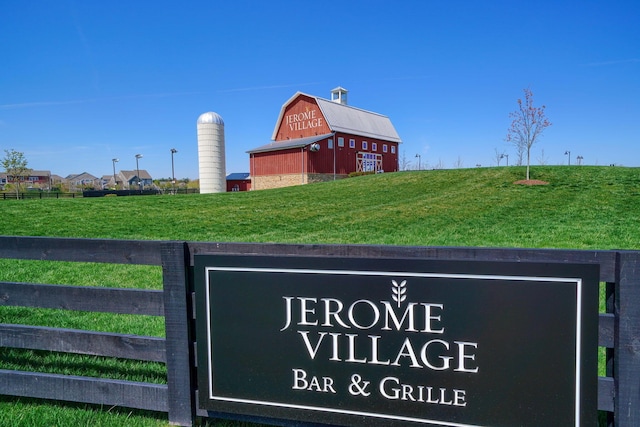
<svg viewBox="0 0 640 427">
<path fill-rule="evenodd" d="M 297 91 L 390 117 L 415 167 L 496 164 L 524 88 L 553 125 L 532 164 L 640 166 L 640 2 L 0 3 L 0 150 L 66 176 L 198 177 L 196 120 L 248 172 Z M 0 151 L 4 157 L 4 151 Z M 502 165 L 504 165 L 504 160 Z"/>
</svg>

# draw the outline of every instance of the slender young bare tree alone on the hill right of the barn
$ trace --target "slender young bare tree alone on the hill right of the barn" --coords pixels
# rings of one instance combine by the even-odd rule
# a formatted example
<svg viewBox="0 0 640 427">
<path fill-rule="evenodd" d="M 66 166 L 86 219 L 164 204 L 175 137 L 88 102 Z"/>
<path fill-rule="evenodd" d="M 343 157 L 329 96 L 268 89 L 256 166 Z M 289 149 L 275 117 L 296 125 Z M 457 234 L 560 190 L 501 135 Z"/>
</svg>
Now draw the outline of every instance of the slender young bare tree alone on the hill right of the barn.
<svg viewBox="0 0 640 427">
<path fill-rule="evenodd" d="M 544 109 L 546 107 L 533 106 L 533 92 L 524 89 L 524 101 L 518 99 L 518 109 L 511 114 L 511 127 L 507 133 L 507 142 L 516 147 L 519 158 L 527 155 L 527 180 L 529 179 L 529 166 L 531 164 L 531 147 L 536 143 L 542 132 L 551 126 Z"/>
</svg>

